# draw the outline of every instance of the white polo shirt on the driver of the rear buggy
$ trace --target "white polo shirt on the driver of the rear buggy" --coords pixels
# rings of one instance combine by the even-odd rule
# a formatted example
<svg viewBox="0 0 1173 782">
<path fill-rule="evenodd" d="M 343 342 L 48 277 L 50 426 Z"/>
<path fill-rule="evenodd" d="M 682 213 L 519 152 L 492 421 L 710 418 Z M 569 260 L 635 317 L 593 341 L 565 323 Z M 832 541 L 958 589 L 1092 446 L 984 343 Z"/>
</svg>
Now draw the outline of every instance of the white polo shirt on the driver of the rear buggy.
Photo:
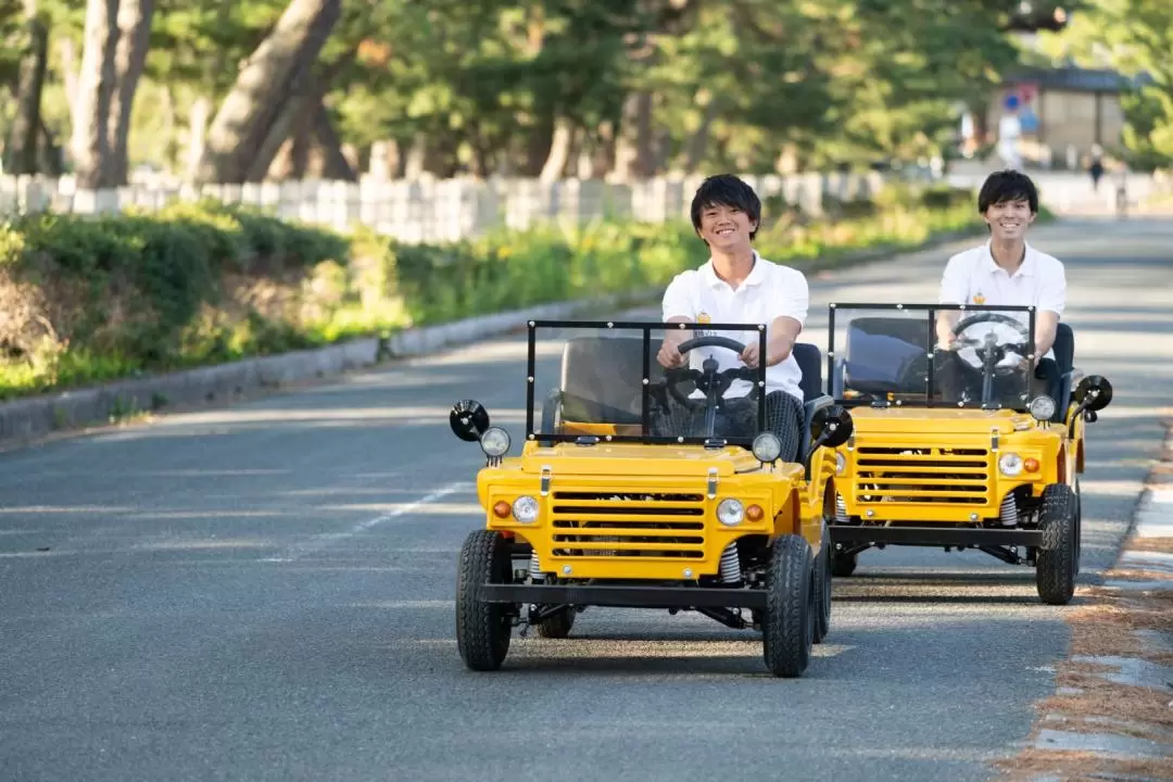
<svg viewBox="0 0 1173 782">
<path fill-rule="evenodd" d="M 941 278 L 941 304 L 977 304 L 1035 306 L 1036 314 L 1050 310 L 1063 317 L 1067 299 L 1067 278 L 1063 263 L 1026 244 L 1026 253 L 1018 270 L 1010 274 L 998 266 L 990 252 L 990 243 L 960 252 L 945 264 Z M 1008 312 L 1023 324 L 1029 313 Z M 995 333 L 1006 341 L 1018 341 L 1021 335 L 1008 326 L 995 327 Z M 1046 356 L 1055 358 L 1055 351 Z"/>
</svg>

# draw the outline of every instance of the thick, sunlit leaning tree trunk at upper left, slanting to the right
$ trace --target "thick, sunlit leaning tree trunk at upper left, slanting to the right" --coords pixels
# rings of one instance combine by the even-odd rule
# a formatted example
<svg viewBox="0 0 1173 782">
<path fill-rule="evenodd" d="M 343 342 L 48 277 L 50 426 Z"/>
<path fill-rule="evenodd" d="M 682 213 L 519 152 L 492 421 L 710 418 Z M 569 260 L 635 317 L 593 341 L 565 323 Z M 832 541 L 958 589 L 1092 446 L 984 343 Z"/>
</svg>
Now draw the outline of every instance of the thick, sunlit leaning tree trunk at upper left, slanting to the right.
<svg viewBox="0 0 1173 782">
<path fill-rule="evenodd" d="M 307 72 L 340 15 L 341 0 L 291 0 L 212 120 L 199 182 L 243 183 L 250 172 L 269 169 L 289 136 L 287 130 L 274 132 L 273 125 L 289 122 L 285 103 L 305 88 Z M 280 136 L 277 143 L 274 136 Z"/>
</svg>

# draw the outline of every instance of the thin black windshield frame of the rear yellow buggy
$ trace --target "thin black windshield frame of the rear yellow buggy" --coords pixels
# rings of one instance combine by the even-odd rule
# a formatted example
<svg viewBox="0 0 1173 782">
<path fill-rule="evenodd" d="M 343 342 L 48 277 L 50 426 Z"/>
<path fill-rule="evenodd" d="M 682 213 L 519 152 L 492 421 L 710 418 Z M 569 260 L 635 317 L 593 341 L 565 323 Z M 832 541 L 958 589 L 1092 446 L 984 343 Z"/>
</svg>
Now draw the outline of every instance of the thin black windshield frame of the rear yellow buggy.
<svg viewBox="0 0 1173 782">
<path fill-rule="evenodd" d="M 859 310 L 859 311 L 889 311 L 889 312 L 923 312 L 925 317 L 925 336 L 927 344 L 924 346 L 925 354 L 931 359 L 936 352 L 936 319 L 938 312 L 961 312 L 961 313 L 977 313 L 977 312 L 1022 312 L 1026 313 L 1026 329 L 1029 332 L 1029 344 L 1031 345 L 1031 355 L 1033 355 L 1035 346 L 1035 314 L 1038 307 L 1033 305 L 992 305 L 992 304 L 881 304 L 881 302 L 868 302 L 868 301 L 832 301 L 827 305 L 827 394 L 833 396 L 836 404 L 842 404 L 843 407 L 877 407 L 877 408 L 949 408 L 954 410 L 1008 410 L 1012 409 L 1015 412 L 1026 410 L 1025 406 L 1022 407 L 1005 407 L 999 403 L 995 404 L 961 404 L 957 401 L 948 400 L 934 400 L 933 394 L 936 392 L 935 375 L 936 370 L 933 366 L 933 361 L 928 362 L 928 378 L 925 382 L 924 396 L 914 400 L 900 400 L 891 402 L 889 400 L 877 400 L 877 399 L 855 399 L 855 397 L 843 397 L 841 394 L 835 394 L 838 386 L 838 375 L 835 368 L 835 361 L 838 351 L 835 349 L 835 312 L 838 310 Z M 1030 378 L 1035 374 L 1033 367 L 1028 370 L 1028 383 Z"/>
</svg>

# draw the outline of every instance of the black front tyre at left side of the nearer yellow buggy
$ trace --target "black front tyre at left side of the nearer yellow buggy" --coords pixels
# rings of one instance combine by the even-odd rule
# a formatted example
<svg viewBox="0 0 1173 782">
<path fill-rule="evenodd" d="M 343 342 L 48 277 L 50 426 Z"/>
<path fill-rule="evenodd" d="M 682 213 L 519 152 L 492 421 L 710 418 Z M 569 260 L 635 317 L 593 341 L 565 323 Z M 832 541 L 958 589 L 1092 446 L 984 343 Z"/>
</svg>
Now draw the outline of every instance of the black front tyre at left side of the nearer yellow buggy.
<svg viewBox="0 0 1173 782">
<path fill-rule="evenodd" d="M 509 653 L 509 606 L 486 603 L 479 587 L 510 577 L 508 542 L 500 532 L 474 530 L 465 538 L 456 574 L 456 648 L 470 671 L 496 671 Z"/>
</svg>

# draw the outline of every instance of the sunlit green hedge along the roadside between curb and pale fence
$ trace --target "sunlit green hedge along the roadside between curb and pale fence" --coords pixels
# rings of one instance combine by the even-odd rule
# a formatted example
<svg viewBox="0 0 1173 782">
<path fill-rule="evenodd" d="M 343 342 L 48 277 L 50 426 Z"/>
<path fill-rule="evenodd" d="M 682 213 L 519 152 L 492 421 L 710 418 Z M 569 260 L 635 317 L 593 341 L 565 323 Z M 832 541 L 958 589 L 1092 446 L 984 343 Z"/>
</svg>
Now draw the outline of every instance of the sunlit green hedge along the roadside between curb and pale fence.
<svg viewBox="0 0 1173 782">
<path fill-rule="evenodd" d="M 755 244 L 809 268 L 978 225 L 972 204 L 890 189 L 838 219 L 778 210 Z M 685 222 L 401 245 L 219 203 L 33 215 L 0 226 L 0 397 L 660 286 L 706 258 Z"/>
</svg>

